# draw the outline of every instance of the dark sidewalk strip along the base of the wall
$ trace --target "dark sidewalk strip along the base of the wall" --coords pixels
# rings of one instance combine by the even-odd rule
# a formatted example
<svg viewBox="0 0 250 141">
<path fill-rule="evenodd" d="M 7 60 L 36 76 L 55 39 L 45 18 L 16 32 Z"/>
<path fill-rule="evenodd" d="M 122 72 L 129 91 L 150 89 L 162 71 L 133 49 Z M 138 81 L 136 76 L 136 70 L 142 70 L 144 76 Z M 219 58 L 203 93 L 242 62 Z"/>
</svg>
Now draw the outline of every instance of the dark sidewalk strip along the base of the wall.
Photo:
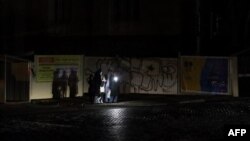
<svg viewBox="0 0 250 141">
<path fill-rule="evenodd" d="M 37 105 L 57 106 L 163 106 L 168 104 L 188 104 L 204 102 L 232 102 L 248 101 L 249 97 L 232 97 L 228 95 L 150 95 L 150 94 L 122 94 L 117 103 L 92 104 L 88 96 L 65 98 L 60 100 L 40 99 L 32 100 Z"/>
</svg>

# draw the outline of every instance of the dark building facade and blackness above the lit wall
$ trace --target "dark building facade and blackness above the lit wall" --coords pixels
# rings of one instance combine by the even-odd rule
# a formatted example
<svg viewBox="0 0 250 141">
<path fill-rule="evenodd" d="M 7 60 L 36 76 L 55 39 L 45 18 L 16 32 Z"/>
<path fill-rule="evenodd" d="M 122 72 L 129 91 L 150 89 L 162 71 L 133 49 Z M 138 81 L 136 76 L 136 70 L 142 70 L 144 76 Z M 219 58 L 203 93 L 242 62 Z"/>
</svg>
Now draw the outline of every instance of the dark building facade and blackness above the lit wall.
<svg viewBox="0 0 250 141">
<path fill-rule="evenodd" d="M 0 53 L 231 56 L 249 48 L 249 0 L 0 0 Z"/>
</svg>

